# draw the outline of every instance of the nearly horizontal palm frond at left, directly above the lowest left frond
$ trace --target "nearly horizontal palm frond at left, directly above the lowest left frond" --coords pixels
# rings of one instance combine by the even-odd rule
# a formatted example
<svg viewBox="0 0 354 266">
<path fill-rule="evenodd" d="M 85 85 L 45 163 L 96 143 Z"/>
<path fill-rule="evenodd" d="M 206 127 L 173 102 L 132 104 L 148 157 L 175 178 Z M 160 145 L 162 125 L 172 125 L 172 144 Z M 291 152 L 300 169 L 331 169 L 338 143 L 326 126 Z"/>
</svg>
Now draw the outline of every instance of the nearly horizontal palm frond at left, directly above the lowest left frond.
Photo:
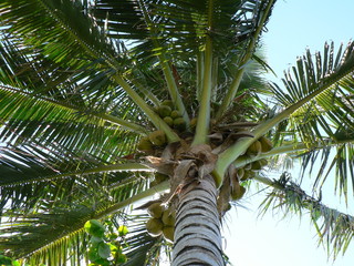
<svg viewBox="0 0 354 266">
<path fill-rule="evenodd" d="M 136 172 L 142 165 L 126 164 L 125 158 L 112 158 L 112 154 L 106 154 L 106 160 L 115 162 L 113 165 L 103 154 L 69 152 L 55 145 L 1 147 L 0 156 L 1 212 L 28 213 L 55 206 L 61 201 L 79 204 L 92 200 L 91 194 L 96 190 L 119 195 L 124 187 L 125 191 L 147 180 L 147 175 Z M 129 173 L 132 170 L 134 173 Z"/>
</svg>

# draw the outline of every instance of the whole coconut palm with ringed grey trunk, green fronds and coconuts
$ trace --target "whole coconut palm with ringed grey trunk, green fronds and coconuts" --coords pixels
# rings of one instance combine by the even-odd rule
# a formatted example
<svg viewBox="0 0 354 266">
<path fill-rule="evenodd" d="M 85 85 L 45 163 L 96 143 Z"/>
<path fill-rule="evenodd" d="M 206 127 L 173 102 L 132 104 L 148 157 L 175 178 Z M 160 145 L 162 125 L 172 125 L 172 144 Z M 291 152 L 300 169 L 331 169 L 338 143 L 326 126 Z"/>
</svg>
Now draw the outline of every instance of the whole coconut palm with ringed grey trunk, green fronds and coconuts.
<svg viewBox="0 0 354 266">
<path fill-rule="evenodd" d="M 4 255 L 116 265 L 119 241 L 125 265 L 171 249 L 173 265 L 225 265 L 222 217 L 253 183 L 273 190 L 264 212 L 308 209 L 320 241 L 345 250 L 353 217 L 321 187 L 335 176 L 347 198 L 354 180 L 354 43 L 308 51 L 282 86 L 267 83 L 259 42 L 274 2 L 1 0 Z M 303 170 L 321 157 L 313 195 L 262 171 L 284 156 Z M 103 239 L 115 245 L 87 253 Z"/>
</svg>

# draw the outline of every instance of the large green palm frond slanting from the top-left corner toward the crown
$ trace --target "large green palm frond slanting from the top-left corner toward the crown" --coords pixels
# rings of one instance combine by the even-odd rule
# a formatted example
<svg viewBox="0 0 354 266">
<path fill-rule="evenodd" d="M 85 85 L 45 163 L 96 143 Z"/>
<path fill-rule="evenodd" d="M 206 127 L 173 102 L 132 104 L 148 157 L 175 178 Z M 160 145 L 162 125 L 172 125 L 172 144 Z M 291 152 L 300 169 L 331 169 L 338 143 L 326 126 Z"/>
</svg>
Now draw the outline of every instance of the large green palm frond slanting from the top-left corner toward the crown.
<svg viewBox="0 0 354 266">
<path fill-rule="evenodd" d="M 108 49 L 108 44 L 112 43 L 105 43 L 107 40 L 104 34 L 100 33 L 97 29 L 92 29 L 95 27 L 92 21 L 90 22 L 91 19 L 87 16 L 82 18 L 83 12 L 76 7 L 76 3 L 67 1 L 67 6 L 59 4 L 60 7 L 56 7 L 58 3 L 58 1 L 31 1 L 28 3 L 28 9 L 22 9 L 20 3 L 21 7 L 13 7 L 10 3 L 1 6 L 3 12 L 7 12 L 6 17 L 1 17 L 3 23 L 7 24 L 7 31 L 1 34 L 0 44 L 3 53 L 0 57 L 0 64 L 3 65 L 3 72 L 0 74 L 1 82 L 4 85 L 20 89 L 22 92 L 60 101 L 79 110 L 90 106 L 92 113 L 105 113 L 102 114 L 105 119 L 117 123 L 125 123 L 124 120 L 132 121 L 137 117 L 145 119 L 146 116 L 137 111 L 137 105 L 126 95 L 126 90 L 116 84 L 115 75 L 119 63 L 111 62 L 110 57 L 117 60 L 118 55 L 115 52 L 119 51 L 114 45 L 111 50 L 104 50 Z M 42 12 L 43 19 L 48 20 L 48 23 L 55 30 L 38 32 L 35 18 L 31 16 L 18 18 L 17 11 L 22 14 L 34 8 L 35 12 Z M 70 24 L 71 21 L 74 21 L 70 18 L 74 17 L 75 12 L 80 14 L 77 14 L 79 18 L 90 22 L 82 23 L 82 27 L 86 27 L 85 30 L 80 30 L 76 24 Z M 63 13 L 65 16 L 67 13 L 70 18 L 64 18 Z M 58 21 L 62 23 L 58 23 Z M 91 38 L 94 40 L 84 39 L 87 31 L 92 32 Z M 55 33 L 59 35 L 52 37 L 49 39 L 51 41 L 48 41 L 48 34 Z M 101 42 L 96 38 L 101 38 Z M 65 55 L 64 51 L 60 49 L 63 42 L 71 54 Z M 98 47 L 91 47 L 91 42 Z M 55 43 L 59 45 L 58 50 L 46 48 L 46 45 L 55 45 Z M 61 50 L 60 55 L 58 55 L 59 50 Z M 56 57 L 60 58 L 56 59 Z M 71 61 L 75 62 L 71 63 Z M 123 60 L 125 66 L 127 63 Z M 8 76 L 12 79 L 10 80 Z M 133 89 L 128 89 L 133 91 Z M 136 94 L 135 98 L 138 95 Z M 119 114 L 118 116 L 122 119 L 114 117 L 116 114 Z"/>
</svg>

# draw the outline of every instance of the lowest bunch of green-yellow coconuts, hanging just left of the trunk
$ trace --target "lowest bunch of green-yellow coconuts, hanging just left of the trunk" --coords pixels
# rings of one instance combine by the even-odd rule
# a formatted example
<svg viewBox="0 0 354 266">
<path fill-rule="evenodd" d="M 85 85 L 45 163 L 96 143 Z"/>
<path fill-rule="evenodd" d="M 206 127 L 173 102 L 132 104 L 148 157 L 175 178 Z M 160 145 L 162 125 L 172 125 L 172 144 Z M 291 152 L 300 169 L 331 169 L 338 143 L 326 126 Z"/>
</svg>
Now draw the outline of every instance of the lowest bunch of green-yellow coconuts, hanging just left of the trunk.
<svg viewBox="0 0 354 266">
<path fill-rule="evenodd" d="M 146 229 L 153 237 L 163 235 L 166 241 L 174 242 L 176 211 L 166 208 L 159 202 L 153 203 L 147 208 L 150 218 L 146 223 Z"/>
</svg>

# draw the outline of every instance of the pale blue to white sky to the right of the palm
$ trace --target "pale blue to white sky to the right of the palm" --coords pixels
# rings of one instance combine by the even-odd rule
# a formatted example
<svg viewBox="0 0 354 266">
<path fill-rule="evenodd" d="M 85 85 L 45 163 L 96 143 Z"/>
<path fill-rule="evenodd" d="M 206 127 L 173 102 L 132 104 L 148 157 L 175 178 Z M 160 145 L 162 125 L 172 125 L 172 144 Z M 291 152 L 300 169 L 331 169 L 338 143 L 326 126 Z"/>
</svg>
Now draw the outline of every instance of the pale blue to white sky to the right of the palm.
<svg viewBox="0 0 354 266">
<path fill-rule="evenodd" d="M 334 41 L 347 43 L 354 38 L 353 0 L 278 0 L 263 48 L 269 65 L 278 80 L 289 66 L 295 64 L 296 57 L 309 48 L 312 53 L 323 51 L 324 43 Z M 273 81 L 277 78 L 271 76 Z M 280 82 L 278 82 L 281 84 Z M 292 175 L 299 176 L 295 165 Z M 313 178 L 309 178 L 309 184 Z M 325 190 L 326 204 L 340 207 L 354 215 L 353 195 L 348 209 L 343 198 L 334 196 L 333 184 Z M 310 219 L 304 215 L 283 218 L 281 214 L 269 213 L 258 217 L 258 206 L 263 197 L 246 194 L 240 204 L 227 215 L 225 223 L 226 254 L 235 266 L 351 266 L 354 265 L 354 243 L 333 263 L 326 250 L 317 247 L 317 236 Z M 352 203 L 352 204 L 351 204 Z"/>
</svg>

